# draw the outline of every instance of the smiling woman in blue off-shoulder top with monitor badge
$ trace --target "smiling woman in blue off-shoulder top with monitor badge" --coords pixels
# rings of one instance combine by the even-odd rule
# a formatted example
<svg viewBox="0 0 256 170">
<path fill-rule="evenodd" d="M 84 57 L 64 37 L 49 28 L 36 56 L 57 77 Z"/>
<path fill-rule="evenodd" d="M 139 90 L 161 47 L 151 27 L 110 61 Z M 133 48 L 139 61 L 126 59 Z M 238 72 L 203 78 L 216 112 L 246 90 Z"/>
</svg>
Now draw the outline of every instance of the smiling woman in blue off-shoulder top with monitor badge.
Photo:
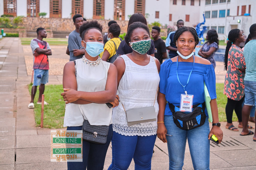
<svg viewBox="0 0 256 170">
<path fill-rule="evenodd" d="M 174 35 L 178 56 L 166 60 L 161 65 L 159 73 L 157 136 L 163 142 L 167 142 L 169 169 L 182 169 L 187 140 L 194 169 L 209 169 L 209 139 L 214 134 L 221 142 L 223 136 L 218 123 L 214 67 L 210 61 L 194 56 L 193 50 L 198 41 L 194 28 L 179 28 Z M 211 98 L 210 105 L 213 118 L 211 130 L 204 106 L 204 82 Z M 193 97 L 193 100 L 187 100 L 190 97 Z M 193 110 L 182 113 L 185 116 L 190 114 L 194 118 L 189 120 L 187 124 L 184 120 L 178 120 L 175 123 L 178 111 L 184 111 L 182 108 L 191 109 L 192 107 L 184 103 L 192 103 Z M 183 107 L 183 104 L 187 106 Z M 179 110 L 179 108 L 181 109 Z M 194 115 L 196 108 L 200 108 L 201 121 L 198 121 L 199 115 Z"/>
</svg>

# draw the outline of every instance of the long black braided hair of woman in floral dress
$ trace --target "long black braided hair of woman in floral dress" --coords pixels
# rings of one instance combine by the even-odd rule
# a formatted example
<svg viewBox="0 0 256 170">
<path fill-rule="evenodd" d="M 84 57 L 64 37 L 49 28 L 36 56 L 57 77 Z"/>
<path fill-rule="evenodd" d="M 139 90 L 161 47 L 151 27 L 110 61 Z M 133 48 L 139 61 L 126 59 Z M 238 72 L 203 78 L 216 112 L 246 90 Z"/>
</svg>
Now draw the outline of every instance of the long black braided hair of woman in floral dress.
<svg viewBox="0 0 256 170">
<path fill-rule="evenodd" d="M 224 70 L 228 69 L 228 52 L 232 43 L 234 43 L 237 40 L 239 33 L 240 33 L 239 29 L 233 29 L 228 33 L 228 42 L 227 42 L 225 56 L 224 56 Z"/>
</svg>

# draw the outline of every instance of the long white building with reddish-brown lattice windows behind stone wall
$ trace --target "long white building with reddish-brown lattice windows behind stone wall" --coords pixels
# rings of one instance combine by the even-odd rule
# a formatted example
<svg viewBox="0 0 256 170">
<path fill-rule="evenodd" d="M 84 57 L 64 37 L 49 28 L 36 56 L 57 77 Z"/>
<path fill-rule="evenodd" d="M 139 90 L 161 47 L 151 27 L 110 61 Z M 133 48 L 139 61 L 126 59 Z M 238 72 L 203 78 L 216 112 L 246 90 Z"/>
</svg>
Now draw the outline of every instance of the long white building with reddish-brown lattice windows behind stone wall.
<svg viewBox="0 0 256 170">
<path fill-rule="evenodd" d="M 149 23 L 176 25 L 182 19 L 194 26 L 199 19 L 200 0 L 0 0 L 0 15 L 71 18 L 81 14 L 87 19 L 129 20 L 141 12 Z M 183 12 L 180 12 L 183 11 Z"/>
</svg>

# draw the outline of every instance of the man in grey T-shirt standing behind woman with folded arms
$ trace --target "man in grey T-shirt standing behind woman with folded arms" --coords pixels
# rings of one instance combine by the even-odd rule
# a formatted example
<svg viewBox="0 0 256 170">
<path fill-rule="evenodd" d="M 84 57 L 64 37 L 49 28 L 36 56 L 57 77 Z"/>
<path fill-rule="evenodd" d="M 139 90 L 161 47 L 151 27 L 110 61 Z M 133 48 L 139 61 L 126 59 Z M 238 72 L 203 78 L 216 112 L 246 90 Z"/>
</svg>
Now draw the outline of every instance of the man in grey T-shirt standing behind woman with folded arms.
<svg viewBox="0 0 256 170">
<path fill-rule="evenodd" d="M 68 36 L 68 49 L 70 52 L 69 61 L 80 59 L 84 55 L 84 50 L 82 49 L 81 41 L 82 38 L 79 34 L 79 27 L 83 24 L 83 17 L 80 14 L 73 16 L 73 21 L 76 29 L 72 31 Z"/>
</svg>

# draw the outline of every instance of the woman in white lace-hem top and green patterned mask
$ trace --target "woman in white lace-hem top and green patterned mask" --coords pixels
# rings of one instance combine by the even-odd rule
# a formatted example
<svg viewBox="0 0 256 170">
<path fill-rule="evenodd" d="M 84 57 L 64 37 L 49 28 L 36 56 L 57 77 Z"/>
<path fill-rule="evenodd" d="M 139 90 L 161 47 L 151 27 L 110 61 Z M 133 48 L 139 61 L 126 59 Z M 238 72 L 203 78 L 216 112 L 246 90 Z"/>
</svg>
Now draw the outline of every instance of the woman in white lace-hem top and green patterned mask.
<svg viewBox="0 0 256 170">
<path fill-rule="evenodd" d="M 151 169 L 157 121 L 128 126 L 125 113 L 125 110 L 154 106 L 156 117 L 158 114 L 160 63 L 146 54 L 151 45 L 149 35 L 147 25 L 131 24 L 125 42 L 133 52 L 119 56 L 114 62 L 118 69 L 120 104 L 113 110 L 112 164 L 108 169 L 127 169 L 132 159 L 135 169 Z"/>
</svg>

